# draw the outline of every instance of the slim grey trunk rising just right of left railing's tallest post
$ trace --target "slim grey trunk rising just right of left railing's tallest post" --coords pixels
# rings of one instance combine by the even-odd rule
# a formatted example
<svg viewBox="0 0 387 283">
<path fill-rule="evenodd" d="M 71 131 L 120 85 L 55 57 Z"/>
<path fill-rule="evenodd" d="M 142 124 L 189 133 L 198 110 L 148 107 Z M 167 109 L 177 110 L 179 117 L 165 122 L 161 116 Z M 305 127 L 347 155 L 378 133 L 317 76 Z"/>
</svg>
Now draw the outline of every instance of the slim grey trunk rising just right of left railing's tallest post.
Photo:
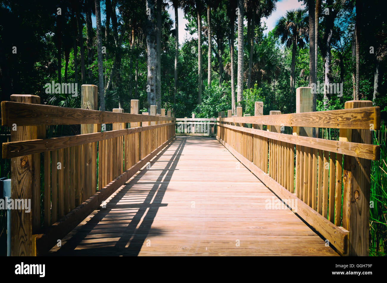
<svg viewBox="0 0 387 283">
<path fill-rule="evenodd" d="M 94 0 L 94 2 L 96 5 L 99 106 L 101 111 L 105 111 L 105 92 L 104 92 L 104 85 L 103 85 L 103 64 L 102 64 L 101 7 L 99 4 L 99 0 Z"/>
</svg>

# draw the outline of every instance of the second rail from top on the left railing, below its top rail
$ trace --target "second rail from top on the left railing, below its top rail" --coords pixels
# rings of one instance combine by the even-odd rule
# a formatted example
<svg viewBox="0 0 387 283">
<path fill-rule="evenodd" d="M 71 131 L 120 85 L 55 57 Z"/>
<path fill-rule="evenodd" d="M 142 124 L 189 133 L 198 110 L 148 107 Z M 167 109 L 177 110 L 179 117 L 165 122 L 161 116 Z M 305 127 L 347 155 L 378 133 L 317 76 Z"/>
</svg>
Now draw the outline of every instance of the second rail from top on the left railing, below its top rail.
<svg viewBox="0 0 387 283">
<path fill-rule="evenodd" d="M 145 115 L 144 115 L 145 116 Z M 91 134 L 81 134 L 67 137 L 53 137 L 51 139 L 35 139 L 29 141 L 15 141 L 3 143 L 3 158 L 13 158 L 27 154 L 42 153 L 57 149 L 80 146 L 91 142 L 104 141 L 115 137 L 139 133 L 146 130 L 157 129 L 175 125 L 175 123 L 158 124 L 152 126 L 135 127 L 122 130 L 111 130 L 108 132 L 96 132 Z"/>
</svg>

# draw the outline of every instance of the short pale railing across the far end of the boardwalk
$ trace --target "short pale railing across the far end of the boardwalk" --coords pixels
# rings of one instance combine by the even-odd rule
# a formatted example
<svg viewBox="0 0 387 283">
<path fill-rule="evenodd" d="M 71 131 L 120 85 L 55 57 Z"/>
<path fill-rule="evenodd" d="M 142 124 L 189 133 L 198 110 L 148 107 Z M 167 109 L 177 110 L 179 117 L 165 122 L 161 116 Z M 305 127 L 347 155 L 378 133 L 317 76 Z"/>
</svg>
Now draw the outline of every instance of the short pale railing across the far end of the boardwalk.
<svg viewBox="0 0 387 283">
<path fill-rule="evenodd" d="M 216 136 L 216 118 L 176 118 L 176 136 Z"/>
</svg>

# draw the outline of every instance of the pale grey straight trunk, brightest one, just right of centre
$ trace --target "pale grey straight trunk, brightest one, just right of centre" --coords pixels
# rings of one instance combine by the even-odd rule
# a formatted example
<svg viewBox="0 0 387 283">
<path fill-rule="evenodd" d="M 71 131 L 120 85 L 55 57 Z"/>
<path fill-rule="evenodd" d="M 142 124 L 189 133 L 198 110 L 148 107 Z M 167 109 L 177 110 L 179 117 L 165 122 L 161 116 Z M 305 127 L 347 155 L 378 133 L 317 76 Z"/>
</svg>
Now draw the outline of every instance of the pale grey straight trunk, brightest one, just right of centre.
<svg viewBox="0 0 387 283">
<path fill-rule="evenodd" d="M 243 100 L 243 0 L 238 0 L 238 93 L 237 106 Z"/>
</svg>

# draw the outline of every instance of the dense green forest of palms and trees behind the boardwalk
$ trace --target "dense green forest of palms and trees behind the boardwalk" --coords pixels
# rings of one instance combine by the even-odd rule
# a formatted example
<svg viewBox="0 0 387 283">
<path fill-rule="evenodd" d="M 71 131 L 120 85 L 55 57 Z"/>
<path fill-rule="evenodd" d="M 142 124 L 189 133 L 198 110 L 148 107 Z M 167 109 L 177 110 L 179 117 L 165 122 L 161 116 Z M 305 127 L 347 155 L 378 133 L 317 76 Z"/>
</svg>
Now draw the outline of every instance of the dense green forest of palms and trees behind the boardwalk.
<svg viewBox="0 0 387 283">
<path fill-rule="evenodd" d="M 80 108 L 81 85 L 92 84 L 101 111 L 128 113 L 138 99 L 140 112 L 156 105 L 158 114 L 166 108 L 173 117 L 209 118 L 229 109 L 235 115 L 236 107 L 254 115 L 256 101 L 264 115 L 294 113 L 296 88 L 311 86 L 314 111 L 371 100 L 385 120 L 385 1 L 288 0 L 294 8 L 269 30 L 267 19 L 283 2 L 0 0 L 1 101 L 32 94 L 42 104 Z M 181 14 L 185 36 L 178 32 Z M 381 132 L 385 137 L 384 126 Z M 80 134 L 80 127 L 65 134 Z M 370 214 L 370 254 L 385 255 L 386 146 L 377 134 L 382 155 L 372 163 L 378 210 Z M 9 175 L 9 164 L 5 174 L 1 165 Z"/>
</svg>

